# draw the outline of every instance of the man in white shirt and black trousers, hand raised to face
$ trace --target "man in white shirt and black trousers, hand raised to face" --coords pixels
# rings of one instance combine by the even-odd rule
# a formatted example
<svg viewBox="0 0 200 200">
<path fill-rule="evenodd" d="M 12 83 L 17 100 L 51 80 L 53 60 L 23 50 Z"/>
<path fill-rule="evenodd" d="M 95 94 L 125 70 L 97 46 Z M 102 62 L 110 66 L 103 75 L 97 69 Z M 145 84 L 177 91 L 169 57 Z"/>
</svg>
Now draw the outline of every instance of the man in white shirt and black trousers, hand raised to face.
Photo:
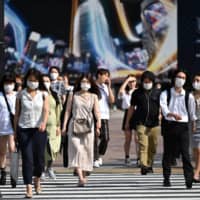
<svg viewBox="0 0 200 200">
<path fill-rule="evenodd" d="M 100 129 L 100 142 L 98 145 L 97 137 L 94 144 L 94 167 L 102 165 L 102 156 L 106 153 L 109 141 L 109 127 L 108 121 L 110 119 L 110 106 L 114 103 L 115 97 L 111 89 L 110 72 L 107 69 L 100 68 L 97 71 L 96 83 L 101 93 L 99 100 L 99 107 L 101 113 L 101 129 Z"/>
</svg>

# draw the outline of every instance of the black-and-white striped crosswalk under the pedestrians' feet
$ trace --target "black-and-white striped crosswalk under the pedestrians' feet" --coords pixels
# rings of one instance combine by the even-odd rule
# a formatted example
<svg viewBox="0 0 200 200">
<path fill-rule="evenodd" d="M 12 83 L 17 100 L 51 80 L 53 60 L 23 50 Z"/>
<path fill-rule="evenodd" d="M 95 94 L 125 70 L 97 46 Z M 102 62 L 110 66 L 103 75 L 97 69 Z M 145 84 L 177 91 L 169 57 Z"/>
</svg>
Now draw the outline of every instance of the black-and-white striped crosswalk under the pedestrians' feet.
<svg viewBox="0 0 200 200">
<path fill-rule="evenodd" d="M 200 184 L 194 184 L 191 190 L 185 189 L 182 174 L 171 177 L 172 187 L 162 186 L 161 174 L 141 176 L 133 173 L 93 173 L 85 187 L 77 187 L 77 177 L 71 173 L 59 173 L 57 179 L 42 182 L 42 193 L 34 199 L 47 200 L 197 200 L 200 199 Z M 25 186 L 22 178 L 17 188 L 9 184 L 0 187 L 2 199 L 24 199 Z M 1 198 L 0 198 L 1 199 Z"/>
</svg>

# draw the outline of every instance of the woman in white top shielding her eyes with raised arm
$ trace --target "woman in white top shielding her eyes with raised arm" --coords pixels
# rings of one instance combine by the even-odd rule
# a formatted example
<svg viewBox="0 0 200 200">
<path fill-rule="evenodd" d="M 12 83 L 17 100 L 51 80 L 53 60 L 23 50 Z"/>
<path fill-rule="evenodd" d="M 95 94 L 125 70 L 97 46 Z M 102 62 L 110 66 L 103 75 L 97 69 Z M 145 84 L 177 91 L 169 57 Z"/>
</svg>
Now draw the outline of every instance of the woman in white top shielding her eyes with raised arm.
<svg viewBox="0 0 200 200">
<path fill-rule="evenodd" d="M 132 140 L 132 131 L 125 129 L 125 122 L 127 117 L 128 108 L 130 107 L 131 95 L 133 91 L 136 89 L 136 76 L 133 74 L 129 74 L 123 84 L 121 85 L 118 98 L 122 100 L 122 109 L 124 110 L 124 117 L 122 121 L 122 130 L 124 131 L 125 135 L 125 142 L 124 142 L 124 153 L 125 153 L 125 164 L 129 165 L 130 163 L 130 145 Z M 135 134 L 135 145 L 136 145 L 136 153 L 137 153 L 137 138 Z"/>
</svg>

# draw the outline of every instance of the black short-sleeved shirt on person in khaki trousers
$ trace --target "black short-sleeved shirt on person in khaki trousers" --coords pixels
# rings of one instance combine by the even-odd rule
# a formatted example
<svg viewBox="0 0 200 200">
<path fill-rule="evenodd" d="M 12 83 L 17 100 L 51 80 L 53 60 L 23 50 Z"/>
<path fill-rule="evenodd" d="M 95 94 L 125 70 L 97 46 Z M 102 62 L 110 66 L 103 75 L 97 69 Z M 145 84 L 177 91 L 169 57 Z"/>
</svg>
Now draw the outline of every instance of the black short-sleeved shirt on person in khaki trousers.
<svg viewBox="0 0 200 200">
<path fill-rule="evenodd" d="M 133 92 L 131 105 L 135 108 L 135 112 L 131 119 L 131 128 L 135 129 L 137 125 L 158 126 L 160 92 L 158 89 L 146 91 L 142 88 Z"/>
</svg>

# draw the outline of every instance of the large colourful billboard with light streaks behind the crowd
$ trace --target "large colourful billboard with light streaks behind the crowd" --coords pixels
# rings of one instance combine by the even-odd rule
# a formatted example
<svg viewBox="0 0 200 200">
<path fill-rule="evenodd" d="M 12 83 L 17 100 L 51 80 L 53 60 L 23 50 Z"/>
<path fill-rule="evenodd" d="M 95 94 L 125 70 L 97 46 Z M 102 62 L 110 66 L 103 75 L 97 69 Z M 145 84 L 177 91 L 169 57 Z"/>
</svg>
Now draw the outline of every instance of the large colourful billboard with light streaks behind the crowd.
<svg viewBox="0 0 200 200">
<path fill-rule="evenodd" d="M 25 9 L 25 4 L 16 2 L 12 8 L 17 7 L 17 12 L 11 9 L 12 3 L 5 5 L 5 30 L 11 29 L 13 33 L 12 36 L 5 35 L 5 38 L 14 38 L 13 43 L 9 38 L 6 47 L 7 65 L 10 60 L 16 59 L 22 71 L 36 67 L 48 72 L 50 65 L 59 65 L 61 71 L 68 73 L 95 73 L 99 67 L 104 67 L 112 72 L 113 78 L 119 78 L 129 73 L 141 74 L 144 70 L 161 74 L 177 66 L 176 0 L 62 0 L 63 5 L 70 2 L 73 9 L 68 10 L 71 20 L 66 19 L 66 23 L 71 30 L 66 33 L 66 38 L 51 37 L 51 31 L 47 37 L 41 28 L 37 30 L 36 26 L 26 23 L 27 29 L 19 16 L 27 21 L 31 10 L 26 14 L 25 11 L 31 8 Z M 49 14 L 52 16 L 52 13 Z M 31 15 L 32 18 L 35 15 L 35 22 L 31 23 L 43 20 L 39 12 Z M 113 27 L 112 21 L 116 27 Z M 52 26 L 57 29 L 57 23 Z M 116 29 L 119 31 L 116 32 Z M 66 31 L 64 26 L 63 31 Z M 67 40 L 69 32 L 72 33 L 72 45 Z"/>
</svg>

